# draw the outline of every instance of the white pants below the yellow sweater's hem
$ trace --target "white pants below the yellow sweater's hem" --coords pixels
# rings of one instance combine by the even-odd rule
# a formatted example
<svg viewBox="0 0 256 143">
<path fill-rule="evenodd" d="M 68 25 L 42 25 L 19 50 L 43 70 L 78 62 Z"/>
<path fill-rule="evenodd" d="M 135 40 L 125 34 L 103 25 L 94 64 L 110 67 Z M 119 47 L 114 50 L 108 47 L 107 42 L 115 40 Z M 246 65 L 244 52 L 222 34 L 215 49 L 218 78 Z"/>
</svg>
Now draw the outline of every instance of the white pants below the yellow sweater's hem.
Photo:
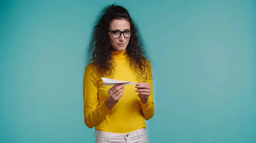
<svg viewBox="0 0 256 143">
<path fill-rule="evenodd" d="M 96 137 L 95 143 L 148 143 L 145 128 L 128 132 L 126 134 L 102 132 L 96 130 L 94 135 Z"/>
</svg>

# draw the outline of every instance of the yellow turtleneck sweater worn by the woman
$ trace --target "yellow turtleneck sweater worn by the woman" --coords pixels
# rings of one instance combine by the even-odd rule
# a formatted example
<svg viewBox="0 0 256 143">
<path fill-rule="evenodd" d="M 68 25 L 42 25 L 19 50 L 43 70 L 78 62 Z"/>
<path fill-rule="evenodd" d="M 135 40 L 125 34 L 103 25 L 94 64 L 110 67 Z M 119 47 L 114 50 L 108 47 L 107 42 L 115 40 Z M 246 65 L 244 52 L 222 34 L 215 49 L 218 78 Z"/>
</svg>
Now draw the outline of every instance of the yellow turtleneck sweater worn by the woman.
<svg viewBox="0 0 256 143">
<path fill-rule="evenodd" d="M 124 51 L 112 51 L 112 58 L 116 63 L 116 73 L 112 79 L 132 81 L 138 83 L 137 76 L 130 67 Z M 148 103 L 143 104 L 135 92 L 135 85 L 125 85 L 124 94 L 118 103 L 109 110 L 105 100 L 109 97 L 108 90 L 113 85 L 104 85 L 100 77 L 93 73 L 91 64 L 84 70 L 83 98 L 84 98 L 84 123 L 89 128 L 95 126 L 96 130 L 114 133 L 127 133 L 146 127 L 145 120 L 154 115 L 154 102 L 152 80 L 144 80 L 151 87 Z"/>
</svg>

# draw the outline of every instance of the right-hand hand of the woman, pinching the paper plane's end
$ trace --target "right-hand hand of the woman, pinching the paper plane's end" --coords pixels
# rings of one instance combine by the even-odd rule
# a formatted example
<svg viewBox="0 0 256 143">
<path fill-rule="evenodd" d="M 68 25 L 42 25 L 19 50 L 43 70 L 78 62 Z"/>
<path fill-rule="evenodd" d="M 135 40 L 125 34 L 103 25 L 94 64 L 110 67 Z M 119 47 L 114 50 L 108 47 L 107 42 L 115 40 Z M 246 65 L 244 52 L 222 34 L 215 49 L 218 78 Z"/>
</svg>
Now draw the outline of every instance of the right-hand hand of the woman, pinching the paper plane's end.
<svg viewBox="0 0 256 143">
<path fill-rule="evenodd" d="M 137 90 L 135 91 L 140 94 L 140 98 L 146 98 L 150 95 L 151 88 L 148 83 L 145 83 L 145 82 L 137 83 L 135 88 L 137 88 Z"/>
</svg>

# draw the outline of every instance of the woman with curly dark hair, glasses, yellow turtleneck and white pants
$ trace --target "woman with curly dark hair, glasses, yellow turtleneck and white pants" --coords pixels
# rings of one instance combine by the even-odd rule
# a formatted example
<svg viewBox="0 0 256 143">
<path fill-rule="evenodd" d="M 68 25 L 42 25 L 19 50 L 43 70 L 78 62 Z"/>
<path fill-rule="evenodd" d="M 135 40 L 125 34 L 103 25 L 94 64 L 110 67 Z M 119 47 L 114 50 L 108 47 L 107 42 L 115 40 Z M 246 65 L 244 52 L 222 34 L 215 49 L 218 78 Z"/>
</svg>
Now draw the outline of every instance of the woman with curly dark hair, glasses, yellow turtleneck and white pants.
<svg viewBox="0 0 256 143">
<path fill-rule="evenodd" d="M 93 28 L 84 70 L 84 123 L 96 143 L 148 143 L 145 120 L 154 115 L 151 64 L 128 11 L 111 5 Z M 102 77 L 135 85 L 103 85 Z"/>
</svg>

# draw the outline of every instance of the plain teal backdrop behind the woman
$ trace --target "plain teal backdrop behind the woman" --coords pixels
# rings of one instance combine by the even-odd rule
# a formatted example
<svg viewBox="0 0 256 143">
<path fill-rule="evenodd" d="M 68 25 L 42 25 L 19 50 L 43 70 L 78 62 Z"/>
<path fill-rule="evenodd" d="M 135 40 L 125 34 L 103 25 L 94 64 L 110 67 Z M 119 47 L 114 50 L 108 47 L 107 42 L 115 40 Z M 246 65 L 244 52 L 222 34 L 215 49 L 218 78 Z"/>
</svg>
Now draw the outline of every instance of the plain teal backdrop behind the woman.
<svg viewBox="0 0 256 143">
<path fill-rule="evenodd" d="M 82 79 L 93 22 L 117 3 L 154 74 L 150 143 L 256 143 L 255 0 L 1 0 L 0 143 L 93 143 Z"/>
</svg>

